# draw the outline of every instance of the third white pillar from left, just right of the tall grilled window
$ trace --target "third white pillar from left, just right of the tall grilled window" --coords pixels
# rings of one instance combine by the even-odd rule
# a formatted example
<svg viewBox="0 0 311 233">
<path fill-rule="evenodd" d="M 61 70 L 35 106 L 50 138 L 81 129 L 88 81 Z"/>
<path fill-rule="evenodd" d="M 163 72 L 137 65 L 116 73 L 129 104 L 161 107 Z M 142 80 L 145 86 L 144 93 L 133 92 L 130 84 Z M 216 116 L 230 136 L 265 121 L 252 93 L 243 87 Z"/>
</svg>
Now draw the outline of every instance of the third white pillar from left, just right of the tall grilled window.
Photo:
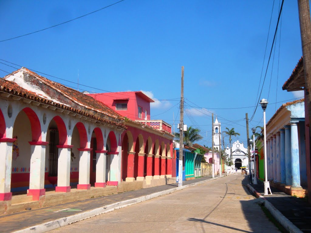
<svg viewBox="0 0 311 233">
<path fill-rule="evenodd" d="M 70 149 L 72 145 L 57 145 L 57 186 L 55 192 L 70 192 Z"/>
</svg>

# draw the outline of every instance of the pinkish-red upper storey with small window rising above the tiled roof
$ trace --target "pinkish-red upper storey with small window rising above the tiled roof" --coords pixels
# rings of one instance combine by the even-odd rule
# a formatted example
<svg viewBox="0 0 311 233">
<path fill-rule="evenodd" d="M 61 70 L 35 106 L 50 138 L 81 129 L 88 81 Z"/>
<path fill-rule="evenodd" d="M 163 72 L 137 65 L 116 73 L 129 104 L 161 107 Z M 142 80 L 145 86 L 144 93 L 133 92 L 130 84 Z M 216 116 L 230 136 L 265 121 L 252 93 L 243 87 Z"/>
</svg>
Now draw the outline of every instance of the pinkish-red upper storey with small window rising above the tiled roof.
<svg viewBox="0 0 311 233">
<path fill-rule="evenodd" d="M 150 103 L 154 101 L 140 91 L 99 93 L 87 95 L 90 95 L 96 100 L 106 104 L 108 107 L 112 108 L 123 117 L 127 117 L 133 121 L 144 120 L 145 110 L 147 110 L 147 119 L 150 120 Z M 128 109 L 116 110 L 116 103 L 127 103 Z M 142 107 L 142 118 L 138 118 L 138 106 Z"/>
</svg>

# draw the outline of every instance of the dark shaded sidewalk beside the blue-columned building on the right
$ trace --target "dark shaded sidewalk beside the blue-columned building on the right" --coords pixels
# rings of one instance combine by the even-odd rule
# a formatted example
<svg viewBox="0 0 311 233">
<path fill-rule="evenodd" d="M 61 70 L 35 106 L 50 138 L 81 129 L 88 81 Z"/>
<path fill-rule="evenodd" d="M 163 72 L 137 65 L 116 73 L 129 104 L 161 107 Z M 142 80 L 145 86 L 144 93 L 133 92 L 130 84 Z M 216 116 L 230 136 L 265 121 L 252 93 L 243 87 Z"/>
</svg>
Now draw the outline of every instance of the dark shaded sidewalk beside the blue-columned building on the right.
<svg viewBox="0 0 311 233">
<path fill-rule="evenodd" d="M 263 183 L 250 185 L 263 196 Z M 307 199 L 287 195 L 274 187 L 271 187 L 271 191 L 272 195 L 264 196 L 264 198 L 301 231 L 311 232 L 311 204 Z"/>
</svg>

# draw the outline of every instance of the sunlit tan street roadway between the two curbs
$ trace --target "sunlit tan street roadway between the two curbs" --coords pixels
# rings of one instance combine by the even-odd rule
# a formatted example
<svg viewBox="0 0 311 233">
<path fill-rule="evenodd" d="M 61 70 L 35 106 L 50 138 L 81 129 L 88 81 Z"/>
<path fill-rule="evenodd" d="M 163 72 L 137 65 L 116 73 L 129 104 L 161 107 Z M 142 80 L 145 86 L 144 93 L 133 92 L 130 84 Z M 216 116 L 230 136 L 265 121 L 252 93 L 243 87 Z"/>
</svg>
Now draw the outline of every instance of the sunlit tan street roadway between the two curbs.
<svg viewBox="0 0 311 233">
<path fill-rule="evenodd" d="M 246 184 L 234 174 L 51 232 L 279 232 Z"/>
</svg>

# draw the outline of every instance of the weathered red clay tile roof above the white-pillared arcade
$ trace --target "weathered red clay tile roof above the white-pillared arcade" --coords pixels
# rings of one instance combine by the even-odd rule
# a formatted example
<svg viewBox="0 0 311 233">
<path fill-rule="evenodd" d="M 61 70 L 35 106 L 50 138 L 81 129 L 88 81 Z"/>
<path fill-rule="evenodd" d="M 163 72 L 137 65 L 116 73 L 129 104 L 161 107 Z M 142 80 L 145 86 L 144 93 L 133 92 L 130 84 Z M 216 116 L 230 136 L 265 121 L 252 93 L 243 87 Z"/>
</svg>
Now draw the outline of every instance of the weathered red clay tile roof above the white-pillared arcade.
<svg viewBox="0 0 311 233">
<path fill-rule="evenodd" d="M 19 71 L 19 70 L 18 70 Z M 15 74 L 17 71 L 14 71 L 12 74 Z M 31 74 L 35 74 L 32 71 L 30 71 Z M 35 74 L 37 75 L 37 74 Z M 8 76 L 8 75 L 7 75 Z M 39 75 L 38 75 L 39 76 Z M 108 123 L 114 126 L 118 126 L 121 128 L 126 129 L 126 127 L 122 124 L 122 120 L 124 119 L 121 115 L 119 115 L 118 113 L 114 112 L 112 109 L 108 108 L 107 106 L 103 105 L 102 103 L 96 101 L 94 98 L 89 97 L 87 95 L 84 95 L 74 89 L 69 89 L 59 83 L 55 83 L 52 82 L 50 80 L 47 80 L 44 77 L 40 76 L 40 80 L 42 80 L 42 82 L 46 82 L 47 85 L 53 85 L 54 89 L 59 88 L 63 91 L 63 95 L 68 95 L 71 93 L 71 95 L 75 96 L 76 99 L 79 99 L 80 109 L 76 109 L 73 107 L 69 107 L 67 105 L 61 104 L 61 103 L 55 103 L 51 100 L 48 100 L 46 98 L 43 98 L 41 96 L 39 96 L 38 94 L 28 91 L 24 88 L 22 88 L 21 86 L 17 85 L 15 82 L 9 81 L 9 80 L 5 80 L 0 78 L 0 91 L 2 92 L 6 92 L 15 96 L 19 96 L 22 98 L 26 98 L 35 102 L 39 102 L 39 103 L 44 103 L 53 107 L 57 107 L 60 109 L 64 109 L 70 112 L 74 112 L 77 113 L 79 115 L 85 116 L 85 117 L 89 117 L 92 118 L 96 121 L 100 121 L 100 122 L 104 122 L 104 123 Z M 84 96 L 86 98 L 84 98 Z M 66 96 L 67 97 L 67 96 Z M 67 97 L 68 98 L 68 97 Z M 72 97 L 73 98 L 73 97 Z M 83 106 L 82 104 L 85 104 L 85 106 Z M 90 105 L 90 106 L 87 106 Z M 101 109 L 102 107 L 102 109 Z M 107 109 L 108 108 L 108 109 Z M 101 109 L 101 110 L 100 110 Z M 92 111 L 90 111 L 92 110 Z M 107 113 L 105 114 L 104 111 L 107 111 Z M 113 114 L 110 114 L 110 112 L 112 112 Z M 109 116 L 109 118 L 113 119 L 108 119 L 107 116 Z"/>
</svg>

